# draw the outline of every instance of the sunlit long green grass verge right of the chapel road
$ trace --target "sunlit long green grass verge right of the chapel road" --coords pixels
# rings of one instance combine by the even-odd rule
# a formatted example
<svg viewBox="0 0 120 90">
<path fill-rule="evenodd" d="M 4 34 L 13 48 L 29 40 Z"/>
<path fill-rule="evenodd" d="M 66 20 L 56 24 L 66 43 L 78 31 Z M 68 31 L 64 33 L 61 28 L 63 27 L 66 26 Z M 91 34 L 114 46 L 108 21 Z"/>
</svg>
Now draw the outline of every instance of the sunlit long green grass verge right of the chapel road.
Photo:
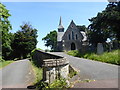
<svg viewBox="0 0 120 90">
<path fill-rule="evenodd" d="M 73 50 L 73 51 L 68 51 L 67 54 L 75 57 L 86 58 L 86 59 L 101 61 L 105 63 L 120 65 L 120 58 L 118 56 L 119 52 L 120 50 L 113 50 L 112 52 L 104 52 L 102 55 L 97 55 L 95 53 L 80 54 L 79 51 Z"/>
</svg>

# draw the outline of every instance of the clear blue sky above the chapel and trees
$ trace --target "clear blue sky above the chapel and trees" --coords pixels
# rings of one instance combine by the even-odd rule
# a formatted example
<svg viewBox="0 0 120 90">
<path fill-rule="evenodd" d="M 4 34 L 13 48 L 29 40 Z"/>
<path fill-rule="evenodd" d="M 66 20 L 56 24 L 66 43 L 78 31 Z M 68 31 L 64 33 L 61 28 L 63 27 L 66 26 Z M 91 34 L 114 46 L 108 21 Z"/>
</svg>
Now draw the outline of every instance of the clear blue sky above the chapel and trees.
<svg viewBox="0 0 120 90">
<path fill-rule="evenodd" d="M 88 19 L 103 11 L 108 2 L 3 2 L 3 4 L 11 14 L 9 17 L 11 32 L 20 30 L 23 22 L 30 22 L 38 30 L 37 48 L 45 50 L 47 47 L 44 46 L 42 38 L 50 31 L 57 31 L 60 16 L 65 30 L 71 20 L 76 25 L 87 27 L 90 24 Z"/>
</svg>

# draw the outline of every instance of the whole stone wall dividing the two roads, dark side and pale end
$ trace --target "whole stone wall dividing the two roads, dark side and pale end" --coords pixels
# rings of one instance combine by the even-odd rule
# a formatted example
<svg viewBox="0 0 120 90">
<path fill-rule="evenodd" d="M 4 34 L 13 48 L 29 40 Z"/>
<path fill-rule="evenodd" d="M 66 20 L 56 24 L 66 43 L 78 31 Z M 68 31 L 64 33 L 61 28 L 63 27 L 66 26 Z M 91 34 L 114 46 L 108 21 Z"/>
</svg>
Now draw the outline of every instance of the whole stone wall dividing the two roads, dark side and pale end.
<svg viewBox="0 0 120 90">
<path fill-rule="evenodd" d="M 68 78 L 69 61 L 66 58 L 36 50 L 33 59 L 43 67 L 43 81 L 52 83 L 60 77 Z"/>
</svg>

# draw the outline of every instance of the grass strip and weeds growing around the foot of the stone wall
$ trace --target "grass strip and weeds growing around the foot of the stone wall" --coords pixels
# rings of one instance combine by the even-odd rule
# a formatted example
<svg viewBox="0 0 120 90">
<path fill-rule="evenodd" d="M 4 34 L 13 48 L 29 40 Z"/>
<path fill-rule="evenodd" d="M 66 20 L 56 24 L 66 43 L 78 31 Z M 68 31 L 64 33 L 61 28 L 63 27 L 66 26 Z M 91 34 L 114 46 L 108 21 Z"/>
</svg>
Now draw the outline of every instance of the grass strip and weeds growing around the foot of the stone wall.
<svg viewBox="0 0 120 90">
<path fill-rule="evenodd" d="M 42 72 L 43 69 L 42 68 L 38 68 L 32 61 L 32 66 L 33 66 L 33 70 L 35 72 L 35 81 L 33 83 L 33 85 L 36 87 L 37 90 L 46 90 L 46 89 L 63 89 L 63 88 L 67 88 L 67 83 L 65 79 L 60 78 L 59 80 L 55 80 L 53 83 L 48 84 L 42 81 Z"/>
</svg>

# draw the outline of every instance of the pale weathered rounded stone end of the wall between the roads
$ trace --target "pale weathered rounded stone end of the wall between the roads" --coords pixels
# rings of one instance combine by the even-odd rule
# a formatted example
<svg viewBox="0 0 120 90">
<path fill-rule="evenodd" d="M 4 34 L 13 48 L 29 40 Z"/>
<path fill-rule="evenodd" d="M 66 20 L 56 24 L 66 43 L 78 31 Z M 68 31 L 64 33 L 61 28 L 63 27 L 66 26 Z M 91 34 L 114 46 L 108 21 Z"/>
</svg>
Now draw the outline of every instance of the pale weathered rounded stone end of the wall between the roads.
<svg viewBox="0 0 120 90">
<path fill-rule="evenodd" d="M 52 83 L 55 79 L 68 78 L 69 62 L 65 58 L 43 60 L 43 80 Z"/>
</svg>

